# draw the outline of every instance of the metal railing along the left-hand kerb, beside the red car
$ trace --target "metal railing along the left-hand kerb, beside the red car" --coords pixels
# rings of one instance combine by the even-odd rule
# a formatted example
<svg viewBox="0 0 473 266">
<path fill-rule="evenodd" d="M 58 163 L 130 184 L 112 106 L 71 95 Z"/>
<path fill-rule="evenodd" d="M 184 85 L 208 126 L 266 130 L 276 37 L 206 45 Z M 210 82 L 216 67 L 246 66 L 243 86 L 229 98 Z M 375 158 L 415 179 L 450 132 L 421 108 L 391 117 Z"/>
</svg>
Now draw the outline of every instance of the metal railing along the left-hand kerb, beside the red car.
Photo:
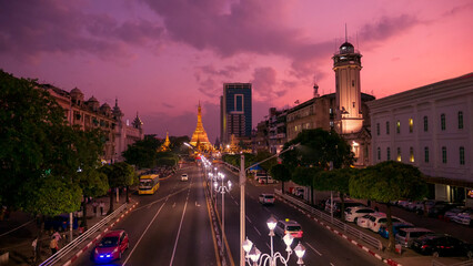
<svg viewBox="0 0 473 266">
<path fill-rule="evenodd" d="M 79 235 L 76 239 L 70 242 L 63 248 L 59 249 L 59 252 L 57 252 L 54 255 L 47 258 L 42 264 L 40 264 L 40 266 L 50 266 L 60 262 L 63 257 L 68 256 L 70 252 L 74 250 L 80 244 L 82 244 L 82 242 L 87 241 L 90 236 L 98 232 L 103 225 L 108 224 L 111 219 L 117 217 L 123 209 L 127 208 L 127 206 L 128 204 L 124 203 L 123 205 L 118 207 L 113 213 L 107 215 L 99 223 L 94 224 L 92 227 Z"/>
</svg>

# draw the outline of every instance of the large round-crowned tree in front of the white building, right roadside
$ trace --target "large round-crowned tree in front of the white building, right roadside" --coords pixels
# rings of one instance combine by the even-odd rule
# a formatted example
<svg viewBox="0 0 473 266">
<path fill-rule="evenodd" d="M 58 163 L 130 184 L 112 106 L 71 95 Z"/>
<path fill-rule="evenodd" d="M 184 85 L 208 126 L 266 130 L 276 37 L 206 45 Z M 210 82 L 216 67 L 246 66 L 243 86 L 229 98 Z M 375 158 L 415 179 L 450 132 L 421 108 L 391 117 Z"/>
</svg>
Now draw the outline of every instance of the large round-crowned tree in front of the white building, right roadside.
<svg viewBox="0 0 473 266">
<path fill-rule="evenodd" d="M 422 200 L 427 186 L 417 167 L 394 161 L 386 161 L 362 170 L 350 178 L 350 195 L 386 204 L 389 250 L 394 249 L 392 234 L 391 201 Z"/>
</svg>

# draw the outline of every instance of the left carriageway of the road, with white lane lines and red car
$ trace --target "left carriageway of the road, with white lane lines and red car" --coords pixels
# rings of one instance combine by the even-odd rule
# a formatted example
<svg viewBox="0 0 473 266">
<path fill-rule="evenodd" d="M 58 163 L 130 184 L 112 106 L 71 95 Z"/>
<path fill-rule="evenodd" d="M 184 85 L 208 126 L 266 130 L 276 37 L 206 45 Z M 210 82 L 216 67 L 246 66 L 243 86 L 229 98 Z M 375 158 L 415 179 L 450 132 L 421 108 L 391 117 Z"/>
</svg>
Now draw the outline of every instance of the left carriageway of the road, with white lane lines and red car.
<svg viewBox="0 0 473 266">
<path fill-rule="evenodd" d="M 184 172 L 189 174 L 188 182 L 180 181 Z M 109 265 L 218 265 L 203 182 L 197 167 L 161 181 L 154 195 L 141 195 L 139 202 L 114 227 L 129 233 L 130 248 L 121 260 Z M 94 263 L 83 255 L 73 265 Z"/>
</svg>

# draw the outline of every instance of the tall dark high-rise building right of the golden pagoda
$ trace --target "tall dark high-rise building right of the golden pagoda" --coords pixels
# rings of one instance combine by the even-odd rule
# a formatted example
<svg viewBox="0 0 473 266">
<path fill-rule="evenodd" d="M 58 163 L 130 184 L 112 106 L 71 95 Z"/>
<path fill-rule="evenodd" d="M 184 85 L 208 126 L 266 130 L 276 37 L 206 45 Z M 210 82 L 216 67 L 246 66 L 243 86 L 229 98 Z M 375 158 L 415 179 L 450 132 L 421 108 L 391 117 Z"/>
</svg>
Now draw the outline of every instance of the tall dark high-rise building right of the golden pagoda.
<svg viewBox="0 0 473 266">
<path fill-rule="evenodd" d="M 252 106 L 251 83 L 224 83 L 220 99 L 220 140 L 230 143 L 231 135 L 238 140 L 251 137 Z"/>
</svg>

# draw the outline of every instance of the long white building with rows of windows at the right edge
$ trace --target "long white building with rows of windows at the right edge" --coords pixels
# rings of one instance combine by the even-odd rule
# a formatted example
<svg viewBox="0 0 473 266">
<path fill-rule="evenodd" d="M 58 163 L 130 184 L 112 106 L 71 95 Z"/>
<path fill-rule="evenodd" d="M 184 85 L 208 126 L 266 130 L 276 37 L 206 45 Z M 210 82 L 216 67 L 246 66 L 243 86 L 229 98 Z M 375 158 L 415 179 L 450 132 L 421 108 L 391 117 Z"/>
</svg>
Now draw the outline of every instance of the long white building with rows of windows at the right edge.
<svg viewBox="0 0 473 266">
<path fill-rule="evenodd" d="M 473 73 L 368 104 L 372 164 L 415 165 L 435 200 L 473 206 Z"/>
</svg>

